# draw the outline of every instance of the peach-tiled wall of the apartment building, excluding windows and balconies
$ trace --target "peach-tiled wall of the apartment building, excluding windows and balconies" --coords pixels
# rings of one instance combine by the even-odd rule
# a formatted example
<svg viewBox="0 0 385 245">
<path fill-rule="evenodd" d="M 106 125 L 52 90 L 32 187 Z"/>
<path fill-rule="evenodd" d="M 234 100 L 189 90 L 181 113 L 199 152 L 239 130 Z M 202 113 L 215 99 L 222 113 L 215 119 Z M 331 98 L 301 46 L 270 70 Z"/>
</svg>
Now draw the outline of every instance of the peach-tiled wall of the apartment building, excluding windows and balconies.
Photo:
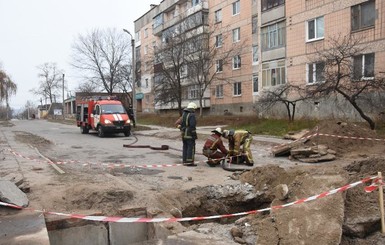
<svg viewBox="0 0 385 245">
<path fill-rule="evenodd" d="M 262 84 L 262 63 L 272 60 L 284 59 L 286 61 L 286 79 L 287 82 L 297 85 L 306 84 L 306 64 L 317 58 L 317 50 L 328 48 L 328 40 L 336 38 L 339 35 L 351 35 L 352 37 L 362 37 L 363 45 L 367 46 L 367 52 L 375 52 L 375 71 L 377 74 L 385 76 L 385 2 L 376 0 L 376 21 L 374 28 L 368 28 L 358 32 L 351 32 L 351 6 L 363 3 L 365 0 L 286 0 L 284 5 L 272 8 L 268 11 L 261 11 L 261 1 L 257 0 L 240 0 L 240 13 L 232 15 L 232 4 L 235 0 L 209 0 L 209 24 L 210 28 L 215 30 L 214 35 L 222 33 L 224 36 L 224 45 L 220 49 L 232 49 L 232 30 L 240 28 L 241 30 L 241 47 L 237 47 L 242 59 L 241 69 L 232 69 L 232 62 L 224 65 L 222 73 L 217 75 L 209 87 L 210 95 L 210 113 L 221 115 L 223 113 L 231 113 L 237 115 L 249 115 L 260 113 L 258 106 L 259 93 L 253 93 L 253 74 L 257 74 L 259 78 L 259 91 L 263 88 Z M 187 4 L 187 5 L 186 5 Z M 190 4 L 190 5 L 189 5 Z M 169 25 L 174 20 L 174 11 L 183 12 L 191 7 L 191 1 L 181 0 L 164 0 L 157 7 L 154 7 L 135 22 L 135 30 L 141 32 L 141 54 L 142 59 L 144 45 L 152 46 L 152 42 L 160 41 L 159 33 L 149 35 L 144 38 L 144 29 L 152 28 L 152 19 L 160 13 L 164 13 L 164 22 L 168 21 Z M 222 22 L 214 24 L 214 13 L 218 9 L 222 9 Z M 252 34 L 252 17 L 258 17 L 258 34 Z M 316 41 L 307 41 L 307 21 L 316 17 L 324 16 L 324 38 Z M 285 21 L 286 43 L 284 47 L 261 51 L 261 27 L 265 27 L 271 23 Z M 167 24 L 165 24 L 167 26 Z M 164 28 L 164 26 L 162 26 Z M 211 45 L 214 44 L 215 38 L 211 38 Z M 259 62 L 252 62 L 252 46 L 259 47 Z M 149 55 L 151 61 L 151 55 Z M 148 67 L 148 66 L 147 66 Z M 143 69 L 142 61 L 142 78 L 149 79 L 153 76 L 153 71 Z M 212 70 L 214 72 L 214 70 Z M 152 79 L 151 79 L 152 82 Z M 241 95 L 234 95 L 233 87 L 235 82 L 242 83 Z M 144 81 L 142 79 L 142 84 Z M 216 97 L 216 85 L 223 85 L 223 96 Z M 153 91 L 151 89 L 139 88 L 147 96 L 147 102 L 142 100 L 143 111 L 154 111 Z M 314 103 L 317 102 L 317 103 Z M 338 110 L 334 107 L 336 100 L 324 99 L 323 101 L 310 101 L 300 103 L 297 106 L 297 116 L 299 117 L 351 117 L 359 119 L 357 113 L 352 110 L 351 105 L 345 103 L 342 99 L 338 99 Z M 379 103 L 381 101 L 378 101 Z M 370 110 L 370 108 L 368 108 Z M 375 112 L 373 112 L 375 114 Z M 277 106 L 266 116 L 287 117 L 284 107 Z"/>
</svg>

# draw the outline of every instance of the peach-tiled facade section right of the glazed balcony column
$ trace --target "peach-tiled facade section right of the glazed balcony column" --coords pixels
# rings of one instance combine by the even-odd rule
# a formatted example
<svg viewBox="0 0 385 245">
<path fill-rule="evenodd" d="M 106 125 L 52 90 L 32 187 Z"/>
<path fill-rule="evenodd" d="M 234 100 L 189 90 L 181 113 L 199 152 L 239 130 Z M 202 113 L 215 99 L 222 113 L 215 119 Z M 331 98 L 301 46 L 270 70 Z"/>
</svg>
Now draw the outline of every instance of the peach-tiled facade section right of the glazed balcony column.
<svg viewBox="0 0 385 245">
<path fill-rule="evenodd" d="M 317 52 L 333 48 L 330 40 L 344 38 L 359 40 L 359 45 L 354 48 L 362 48 L 360 54 L 351 57 L 350 82 L 384 78 L 384 1 L 286 1 L 285 7 L 287 82 L 306 86 L 322 83 L 325 67 L 324 63 L 314 62 Z M 361 120 L 356 110 L 341 97 L 313 102 L 298 107 L 299 116 Z M 373 117 L 378 115 L 378 111 L 371 106 L 364 106 L 363 109 Z"/>
</svg>

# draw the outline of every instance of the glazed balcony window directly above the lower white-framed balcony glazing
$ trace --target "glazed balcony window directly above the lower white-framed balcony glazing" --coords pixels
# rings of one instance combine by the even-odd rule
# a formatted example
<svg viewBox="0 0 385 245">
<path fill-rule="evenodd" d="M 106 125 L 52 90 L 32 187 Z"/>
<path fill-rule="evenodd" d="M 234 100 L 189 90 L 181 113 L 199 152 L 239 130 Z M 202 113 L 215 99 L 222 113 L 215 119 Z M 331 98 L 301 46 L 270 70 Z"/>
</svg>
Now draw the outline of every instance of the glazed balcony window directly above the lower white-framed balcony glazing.
<svg viewBox="0 0 385 245">
<path fill-rule="evenodd" d="M 262 50 L 284 47 L 286 44 L 285 22 L 279 22 L 262 29 Z"/>
</svg>

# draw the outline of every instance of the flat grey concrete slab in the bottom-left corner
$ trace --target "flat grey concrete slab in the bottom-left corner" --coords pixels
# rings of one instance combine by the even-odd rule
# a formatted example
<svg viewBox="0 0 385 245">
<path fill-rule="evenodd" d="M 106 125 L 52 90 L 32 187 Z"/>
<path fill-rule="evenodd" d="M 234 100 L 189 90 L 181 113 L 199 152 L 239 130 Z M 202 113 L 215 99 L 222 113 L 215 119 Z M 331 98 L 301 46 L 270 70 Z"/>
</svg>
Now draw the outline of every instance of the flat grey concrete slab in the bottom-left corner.
<svg viewBox="0 0 385 245">
<path fill-rule="evenodd" d="M 27 210 L 0 214 L 0 245 L 49 245 L 44 215 Z"/>
</svg>

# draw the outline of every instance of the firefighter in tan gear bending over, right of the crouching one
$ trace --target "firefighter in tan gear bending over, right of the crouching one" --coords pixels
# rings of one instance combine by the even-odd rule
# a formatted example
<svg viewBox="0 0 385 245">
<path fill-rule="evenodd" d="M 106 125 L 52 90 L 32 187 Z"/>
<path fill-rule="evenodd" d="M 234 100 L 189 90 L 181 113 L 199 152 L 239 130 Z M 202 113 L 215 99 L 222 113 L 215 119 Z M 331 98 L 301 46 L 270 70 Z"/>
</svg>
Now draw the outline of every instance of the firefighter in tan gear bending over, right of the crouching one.
<svg viewBox="0 0 385 245">
<path fill-rule="evenodd" d="M 253 141 L 251 133 L 247 130 L 223 130 L 223 137 L 229 140 L 229 155 L 235 156 L 237 163 L 242 157 L 246 165 L 253 166 L 254 160 L 251 154 L 250 145 Z M 242 147 L 242 149 L 241 149 Z"/>
</svg>

